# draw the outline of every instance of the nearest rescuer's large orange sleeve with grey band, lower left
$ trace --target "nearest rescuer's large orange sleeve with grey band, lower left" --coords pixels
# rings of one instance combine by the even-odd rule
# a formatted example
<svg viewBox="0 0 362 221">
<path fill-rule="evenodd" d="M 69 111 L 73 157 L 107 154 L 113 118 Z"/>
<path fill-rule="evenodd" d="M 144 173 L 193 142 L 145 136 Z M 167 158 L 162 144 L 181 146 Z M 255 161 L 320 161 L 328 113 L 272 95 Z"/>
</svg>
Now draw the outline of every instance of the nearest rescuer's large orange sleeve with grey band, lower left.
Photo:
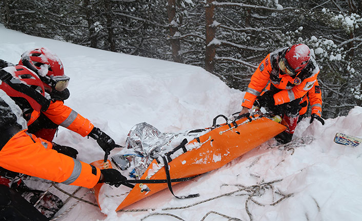
<svg viewBox="0 0 362 221">
<path fill-rule="evenodd" d="M 86 188 L 97 184 L 98 168 L 51 148 L 51 143 L 21 130 L 0 150 L 0 167 L 57 183 Z"/>
</svg>

